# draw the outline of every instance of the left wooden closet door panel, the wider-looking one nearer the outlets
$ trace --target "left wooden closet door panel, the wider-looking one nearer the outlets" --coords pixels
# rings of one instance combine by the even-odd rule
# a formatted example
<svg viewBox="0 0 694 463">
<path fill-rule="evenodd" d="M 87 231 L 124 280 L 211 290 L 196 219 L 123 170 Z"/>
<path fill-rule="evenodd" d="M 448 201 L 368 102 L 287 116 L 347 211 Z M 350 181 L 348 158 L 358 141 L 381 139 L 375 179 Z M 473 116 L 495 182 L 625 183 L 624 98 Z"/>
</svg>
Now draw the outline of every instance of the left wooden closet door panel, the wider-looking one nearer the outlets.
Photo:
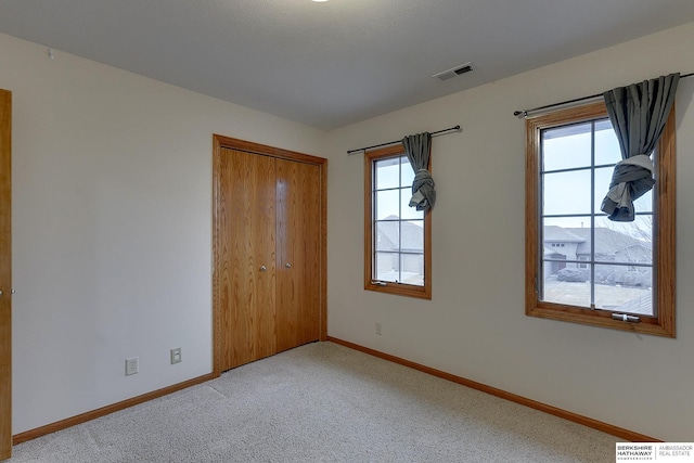
<svg viewBox="0 0 694 463">
<path fill-rule="evenodd" d="M 222 149 L 219 201 L 221 371 L 275 347 L 275 159 Z"/>
</svg>

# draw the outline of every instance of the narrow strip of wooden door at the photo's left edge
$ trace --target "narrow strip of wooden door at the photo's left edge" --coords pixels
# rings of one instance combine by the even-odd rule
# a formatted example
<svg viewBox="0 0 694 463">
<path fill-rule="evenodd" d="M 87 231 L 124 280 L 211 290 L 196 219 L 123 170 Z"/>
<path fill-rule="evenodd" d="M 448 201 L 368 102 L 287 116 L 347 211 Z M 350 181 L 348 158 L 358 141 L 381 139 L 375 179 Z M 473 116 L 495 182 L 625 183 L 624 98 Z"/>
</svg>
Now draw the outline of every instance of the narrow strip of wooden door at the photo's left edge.
<svg viewBox="0 0 694 463">
<path fill-rule="evenodd" d="M 0 90 L 0 460 L 5 460 L 12 455 L 12 92 L 8 90 Z"/>
</svg>

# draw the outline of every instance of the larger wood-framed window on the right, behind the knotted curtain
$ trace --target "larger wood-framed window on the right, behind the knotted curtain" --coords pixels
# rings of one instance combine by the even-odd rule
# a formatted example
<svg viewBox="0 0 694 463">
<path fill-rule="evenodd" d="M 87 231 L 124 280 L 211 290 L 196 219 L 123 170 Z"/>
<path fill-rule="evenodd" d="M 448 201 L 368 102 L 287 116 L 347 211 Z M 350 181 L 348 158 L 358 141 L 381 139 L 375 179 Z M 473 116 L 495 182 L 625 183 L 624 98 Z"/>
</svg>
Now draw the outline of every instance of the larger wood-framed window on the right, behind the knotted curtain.
<svg viewBox="0 0 694 463">
<path fill-rule="evenodd" d="M 526 314 L 674 337 L 674 108 L 633 222 L 600 209 L 621 159 L 603 103 L 526 131 Z"/>
</svg>

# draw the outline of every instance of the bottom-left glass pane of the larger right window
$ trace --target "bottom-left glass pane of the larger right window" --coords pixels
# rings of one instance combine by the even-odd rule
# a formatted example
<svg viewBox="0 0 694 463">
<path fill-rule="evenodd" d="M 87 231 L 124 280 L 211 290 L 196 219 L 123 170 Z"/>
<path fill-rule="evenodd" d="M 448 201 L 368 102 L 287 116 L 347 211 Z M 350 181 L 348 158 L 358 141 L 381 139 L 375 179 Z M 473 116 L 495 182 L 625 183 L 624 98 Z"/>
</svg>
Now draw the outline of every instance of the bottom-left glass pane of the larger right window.
<svg viewBox="0 0 694 463">
<path fill-rule="evenodd" d="M 590 307 L 590 265 L 584 269 L 573 262 L 543 262 L 542 300 Z"/>
</svg>

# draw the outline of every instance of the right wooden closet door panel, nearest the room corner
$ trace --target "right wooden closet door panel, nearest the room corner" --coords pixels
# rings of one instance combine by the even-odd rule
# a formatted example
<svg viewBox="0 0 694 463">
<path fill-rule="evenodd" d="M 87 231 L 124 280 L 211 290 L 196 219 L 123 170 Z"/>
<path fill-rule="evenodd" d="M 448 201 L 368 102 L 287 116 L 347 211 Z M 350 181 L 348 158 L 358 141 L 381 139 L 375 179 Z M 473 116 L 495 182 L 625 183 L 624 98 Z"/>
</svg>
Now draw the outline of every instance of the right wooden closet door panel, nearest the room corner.
<svg viewBox="0 0 694 463">
<path fill-rule="evenodd" d="M 321 169 L 278 159 L 277 349 L 319 339 Z"/>
</svg>

